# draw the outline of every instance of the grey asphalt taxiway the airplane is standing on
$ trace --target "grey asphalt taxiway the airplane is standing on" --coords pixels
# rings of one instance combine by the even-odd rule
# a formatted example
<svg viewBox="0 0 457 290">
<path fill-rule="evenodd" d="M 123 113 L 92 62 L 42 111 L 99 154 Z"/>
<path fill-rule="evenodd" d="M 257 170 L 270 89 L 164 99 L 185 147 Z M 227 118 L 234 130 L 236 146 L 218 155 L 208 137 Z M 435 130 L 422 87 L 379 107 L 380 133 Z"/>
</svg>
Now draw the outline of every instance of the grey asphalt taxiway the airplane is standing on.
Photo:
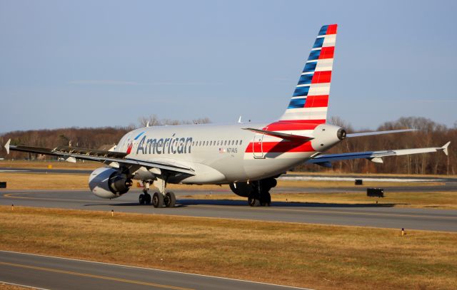
<svg viewBox="0 0 457 290">
<path fill-rule="evenodd" d="M 288 189 L 275 190 L 288 191 Z M 290 190 L 309 192 L 309 189 Z M 319 190 L 322 191 L 322 189 Z M 174 192 L 178 200 L 177 206 L 161 209 L 151 205 L 140 205 L 138 203 L 140 190 L 132 190 L 115 200 L 103 200 L 89 190 L 1 190 L 0 204 L 457 232 L 457 210 L 401 208 L 394 207 L 394 204 L 382 203 L 382 200 L 378 204 L 374 202 L 373 204 L 272 202 L 271 207 L 249 207 L 247 202 L 242 200 L 191 200 L 187 197 L 208 194 L 209 190 L 174 190 Z M 227 193 L 230 191 L 211 191 L 212 195 Z"/>
</svg>

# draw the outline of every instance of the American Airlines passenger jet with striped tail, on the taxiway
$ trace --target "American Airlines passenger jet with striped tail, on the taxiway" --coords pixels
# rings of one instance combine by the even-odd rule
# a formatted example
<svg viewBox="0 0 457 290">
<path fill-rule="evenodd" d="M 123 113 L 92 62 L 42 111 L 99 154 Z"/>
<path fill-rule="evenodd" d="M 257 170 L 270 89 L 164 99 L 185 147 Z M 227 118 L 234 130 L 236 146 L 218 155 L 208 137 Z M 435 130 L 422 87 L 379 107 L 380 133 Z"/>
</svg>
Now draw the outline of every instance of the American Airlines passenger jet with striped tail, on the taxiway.
<svg viewBox="0 0 457 290">
<path fill-rule="evenodd" d="M 229 184 L 252 207 L 268 206 L 276 178 L 303 162 L 331 167 L 331 162 L 356 158 L 382 162 L 383 157 L 395 155 L 438 151 L 447 155 L 449 142 L 442 147 L 325 154 L 346 138 L 412 131 L 348 134 L 326 122 L 336 31 L 336 24 L 321 27 L 285 112 L 273 122 L 146 125 L 126 133 L 108 151 L 10 145 L 11 140 L 4 147 L 8 153 L 16 150 L 55 155 L 69 162 L 102 162 L 106 167 L 89 176 L 89 188 L 96 196 L 120 197 L 129 191 L 132 180 L 139 180 L 144 185 L 139 203 L 152 202 L 154 207 L 175 206 L 176 196 L 166 190 L 168 184 Z M 158 190 L 152 197 L 151 184 Z"/>
</svg>

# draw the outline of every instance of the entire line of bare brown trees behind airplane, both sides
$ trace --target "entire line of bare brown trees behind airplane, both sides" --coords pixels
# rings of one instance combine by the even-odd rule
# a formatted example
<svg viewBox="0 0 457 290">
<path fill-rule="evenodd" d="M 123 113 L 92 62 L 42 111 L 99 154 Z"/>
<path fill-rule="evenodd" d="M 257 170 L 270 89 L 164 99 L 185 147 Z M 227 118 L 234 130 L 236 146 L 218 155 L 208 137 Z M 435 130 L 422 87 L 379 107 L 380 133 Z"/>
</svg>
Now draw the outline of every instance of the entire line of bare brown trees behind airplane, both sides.
<svg viewBox="0 0 457 290">
<path fill-rule="evenodd" d="M 5 133 L 0 136 L 3 145 L 11 138 L 11 145 L 30 145 L 37 147 L 72 146 L 108 150 L 116 144 L 121 137 L 134 128 L 158 125 L 181 125 L 193 123 L 211 123 L 209 118 L 196 120 L 171 120 L 160 119 L 156 115 L 139 118 L 137 125 L 126 127 L 105 128 L 61 128 L 54 130 L 26 130 Z M 348 133 L 364 132 L 366 130 L 353 130 L 352 126 L 341 118 L 331 118 L 330 123 L 346 128 Z M 417 131 L 411 133 L 398 133 L 388 135 L 366 136 L 348 138 L 333 147 L 329 152 L 361 152 L 386 149 L 407 149 L 414 147 L 441 147 L 448 141 L 449 155 L 443 152 L 384 157 L 383 163 L 375 163 L 365 159 L 345 160 L 334 162 L 333 167 L 325 168 L 318 165 L 300 165 L 294 170 L 308 172 L 353 172 L 353 173 L 404 173 L 404 174 L 457 174 L 457 153 L 452 150 L 457 144 L 457 124 L 453 128 L 441 125 L 427 118 L 408 117 L 399 118 L 380 125 L 377 130 L 397 130 L 412 128 Z M 27 155 L 21 152 L 0 152 L 0 157 L 8 159 L 34 159 L 36 155 Z M 52 159 L 53 157 L 39 156 L 39 158 Z"/>
</svg>

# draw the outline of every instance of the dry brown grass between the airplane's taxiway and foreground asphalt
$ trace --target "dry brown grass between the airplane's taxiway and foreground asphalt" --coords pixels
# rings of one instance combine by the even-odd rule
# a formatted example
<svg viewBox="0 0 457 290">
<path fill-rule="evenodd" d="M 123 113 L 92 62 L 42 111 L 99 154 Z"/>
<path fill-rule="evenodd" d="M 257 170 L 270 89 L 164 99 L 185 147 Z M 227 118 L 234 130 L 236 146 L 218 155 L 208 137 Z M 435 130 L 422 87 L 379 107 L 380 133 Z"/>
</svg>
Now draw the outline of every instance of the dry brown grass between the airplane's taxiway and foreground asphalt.
<svg viewBox="0 0 457 290">
<path fill-rule="evenodd" d="M 0 207 L 0 249 L 318 289 L 453 289 L 457 234 Z"/>
</svg>

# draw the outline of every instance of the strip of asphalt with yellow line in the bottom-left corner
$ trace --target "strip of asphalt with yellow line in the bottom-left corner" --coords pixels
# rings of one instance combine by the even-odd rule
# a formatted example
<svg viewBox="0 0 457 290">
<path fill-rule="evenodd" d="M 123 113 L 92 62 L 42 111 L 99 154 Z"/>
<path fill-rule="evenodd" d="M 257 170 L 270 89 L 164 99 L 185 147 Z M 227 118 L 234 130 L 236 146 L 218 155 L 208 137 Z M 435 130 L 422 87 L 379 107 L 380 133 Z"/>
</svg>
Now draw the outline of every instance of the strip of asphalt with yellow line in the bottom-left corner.
<svg viewBox="0 0 457 290">
<path fill-rule="evenodd" d="M 215 276 L 0 251 L 1 282 L 39 289 L 298 289 Z"/>
</svg>

